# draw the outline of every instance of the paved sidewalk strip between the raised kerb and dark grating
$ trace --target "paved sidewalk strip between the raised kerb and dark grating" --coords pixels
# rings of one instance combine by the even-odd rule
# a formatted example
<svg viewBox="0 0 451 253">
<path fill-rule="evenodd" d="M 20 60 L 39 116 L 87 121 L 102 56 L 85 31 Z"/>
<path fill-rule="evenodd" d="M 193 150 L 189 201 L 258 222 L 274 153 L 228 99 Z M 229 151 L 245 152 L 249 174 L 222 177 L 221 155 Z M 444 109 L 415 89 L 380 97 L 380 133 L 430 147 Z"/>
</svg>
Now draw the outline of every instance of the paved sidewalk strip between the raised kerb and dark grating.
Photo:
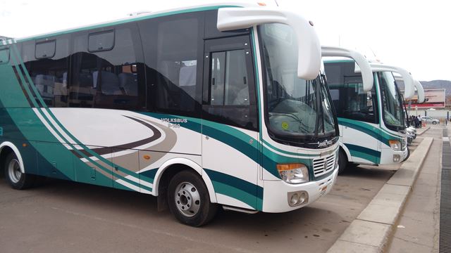
<svg viewBox="0 0 451 253">
<path fill-rule="evenodd" d="M 434 141 L 400 215 L 387 252 L 438 252 L 440 171 L 443 129 L 429 129 L 423 137 Z"/>
</svg>

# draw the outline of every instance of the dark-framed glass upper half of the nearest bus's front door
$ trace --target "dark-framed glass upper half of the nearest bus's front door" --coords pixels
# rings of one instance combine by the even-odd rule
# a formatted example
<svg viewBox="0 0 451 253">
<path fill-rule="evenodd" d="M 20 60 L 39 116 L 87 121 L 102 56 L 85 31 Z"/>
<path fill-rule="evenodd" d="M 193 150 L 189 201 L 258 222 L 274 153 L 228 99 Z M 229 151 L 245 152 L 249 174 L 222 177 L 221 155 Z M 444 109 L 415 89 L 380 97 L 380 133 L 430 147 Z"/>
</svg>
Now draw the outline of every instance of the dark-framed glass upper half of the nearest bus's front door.
<svg viewBox="0 0 451 253">
<path fill-rule="evenodd" d="M 249 37 L 209 40 L 205 47 L 204 118 L 257 130 Z"/>
</svg>

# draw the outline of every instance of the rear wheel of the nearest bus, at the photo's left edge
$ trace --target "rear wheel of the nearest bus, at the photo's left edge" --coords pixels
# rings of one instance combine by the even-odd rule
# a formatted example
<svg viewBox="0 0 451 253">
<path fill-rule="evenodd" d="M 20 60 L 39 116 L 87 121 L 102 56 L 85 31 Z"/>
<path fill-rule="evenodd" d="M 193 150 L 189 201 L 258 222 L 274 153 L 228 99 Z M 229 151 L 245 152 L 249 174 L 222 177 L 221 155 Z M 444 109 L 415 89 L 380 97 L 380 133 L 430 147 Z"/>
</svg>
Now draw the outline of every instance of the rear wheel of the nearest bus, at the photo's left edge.
<svg viewBox="0 0 451 253">
<path fill-rule="evenodd" d="M 32 187 L 35 183 L 35 175 L 20 171 L 20 163 L 15 153 L 9 153 L 6 156 L 4 169 L 6 181 L 13 189 L 23 190 Z"/>
</svg>

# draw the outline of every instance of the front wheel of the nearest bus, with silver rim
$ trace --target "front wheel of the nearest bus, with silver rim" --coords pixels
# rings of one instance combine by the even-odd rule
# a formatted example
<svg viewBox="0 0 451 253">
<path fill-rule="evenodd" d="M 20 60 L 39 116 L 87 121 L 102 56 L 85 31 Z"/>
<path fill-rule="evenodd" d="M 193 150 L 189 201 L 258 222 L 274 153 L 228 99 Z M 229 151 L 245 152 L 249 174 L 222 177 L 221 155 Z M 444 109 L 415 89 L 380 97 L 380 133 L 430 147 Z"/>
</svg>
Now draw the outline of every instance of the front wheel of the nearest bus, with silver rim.
<svg viewBox="0 0 451 253">
<path fill-rule="evenodd" d="M 217 211 L 204 181 L 191 171 L 173 176 L 168 186 L 168 205 L 178 221 L 196 227 L 211 221 Z"/>
</svg>

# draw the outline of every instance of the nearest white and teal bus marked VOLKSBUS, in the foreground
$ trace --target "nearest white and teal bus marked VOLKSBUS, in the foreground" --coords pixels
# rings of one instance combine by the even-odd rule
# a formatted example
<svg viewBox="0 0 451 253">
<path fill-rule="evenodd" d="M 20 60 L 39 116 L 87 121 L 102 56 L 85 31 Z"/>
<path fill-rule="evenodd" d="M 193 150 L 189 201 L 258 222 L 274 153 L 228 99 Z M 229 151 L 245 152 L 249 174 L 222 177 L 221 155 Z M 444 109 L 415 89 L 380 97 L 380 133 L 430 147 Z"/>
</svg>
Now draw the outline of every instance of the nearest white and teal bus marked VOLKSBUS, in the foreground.
<svg viewBox="0 0 451 253">
<path fill-rule="evenodd" d="M 0 46 L 0 164 L 157 196 L 191 226 L 218 206 L 288 212 L 328 193 L 338 121 L 312 23 L 196 6 Z"/>
</svg>

